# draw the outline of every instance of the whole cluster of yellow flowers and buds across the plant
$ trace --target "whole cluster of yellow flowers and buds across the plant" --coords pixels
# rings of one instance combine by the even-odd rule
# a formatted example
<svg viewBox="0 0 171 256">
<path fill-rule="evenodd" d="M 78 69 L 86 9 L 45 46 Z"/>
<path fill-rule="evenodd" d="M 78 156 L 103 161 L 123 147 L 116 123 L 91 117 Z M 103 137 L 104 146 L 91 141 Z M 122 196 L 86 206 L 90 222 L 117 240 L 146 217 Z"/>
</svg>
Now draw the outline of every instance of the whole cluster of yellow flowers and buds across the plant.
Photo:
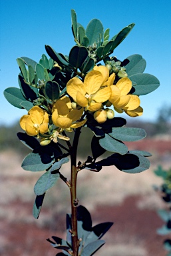
<svg viewBox="0 0 171 256">
<path fill-rule="evenodd" d="M 114 84 L 116 74 L 110 75 L 106 66 L 95 66 L 85 79 L 73 77 L 67 83 L 67 95 L 57 99 L 49 112 L 41 106 L 32 107 L 28 115 L 21 117 L 20 125 L 30 136 L 41 137 L 41 145 L 57 138 L 68 140 L 63 131 L 71 132 L 86 123 L 86 113 L 91 113 L 98 123 L 114 117 L 115 111 L 123 111 L 131 117 L 142 115 L 140 99 L 130 94 L 132 82 L 123 77 Z"/>
</svg>

